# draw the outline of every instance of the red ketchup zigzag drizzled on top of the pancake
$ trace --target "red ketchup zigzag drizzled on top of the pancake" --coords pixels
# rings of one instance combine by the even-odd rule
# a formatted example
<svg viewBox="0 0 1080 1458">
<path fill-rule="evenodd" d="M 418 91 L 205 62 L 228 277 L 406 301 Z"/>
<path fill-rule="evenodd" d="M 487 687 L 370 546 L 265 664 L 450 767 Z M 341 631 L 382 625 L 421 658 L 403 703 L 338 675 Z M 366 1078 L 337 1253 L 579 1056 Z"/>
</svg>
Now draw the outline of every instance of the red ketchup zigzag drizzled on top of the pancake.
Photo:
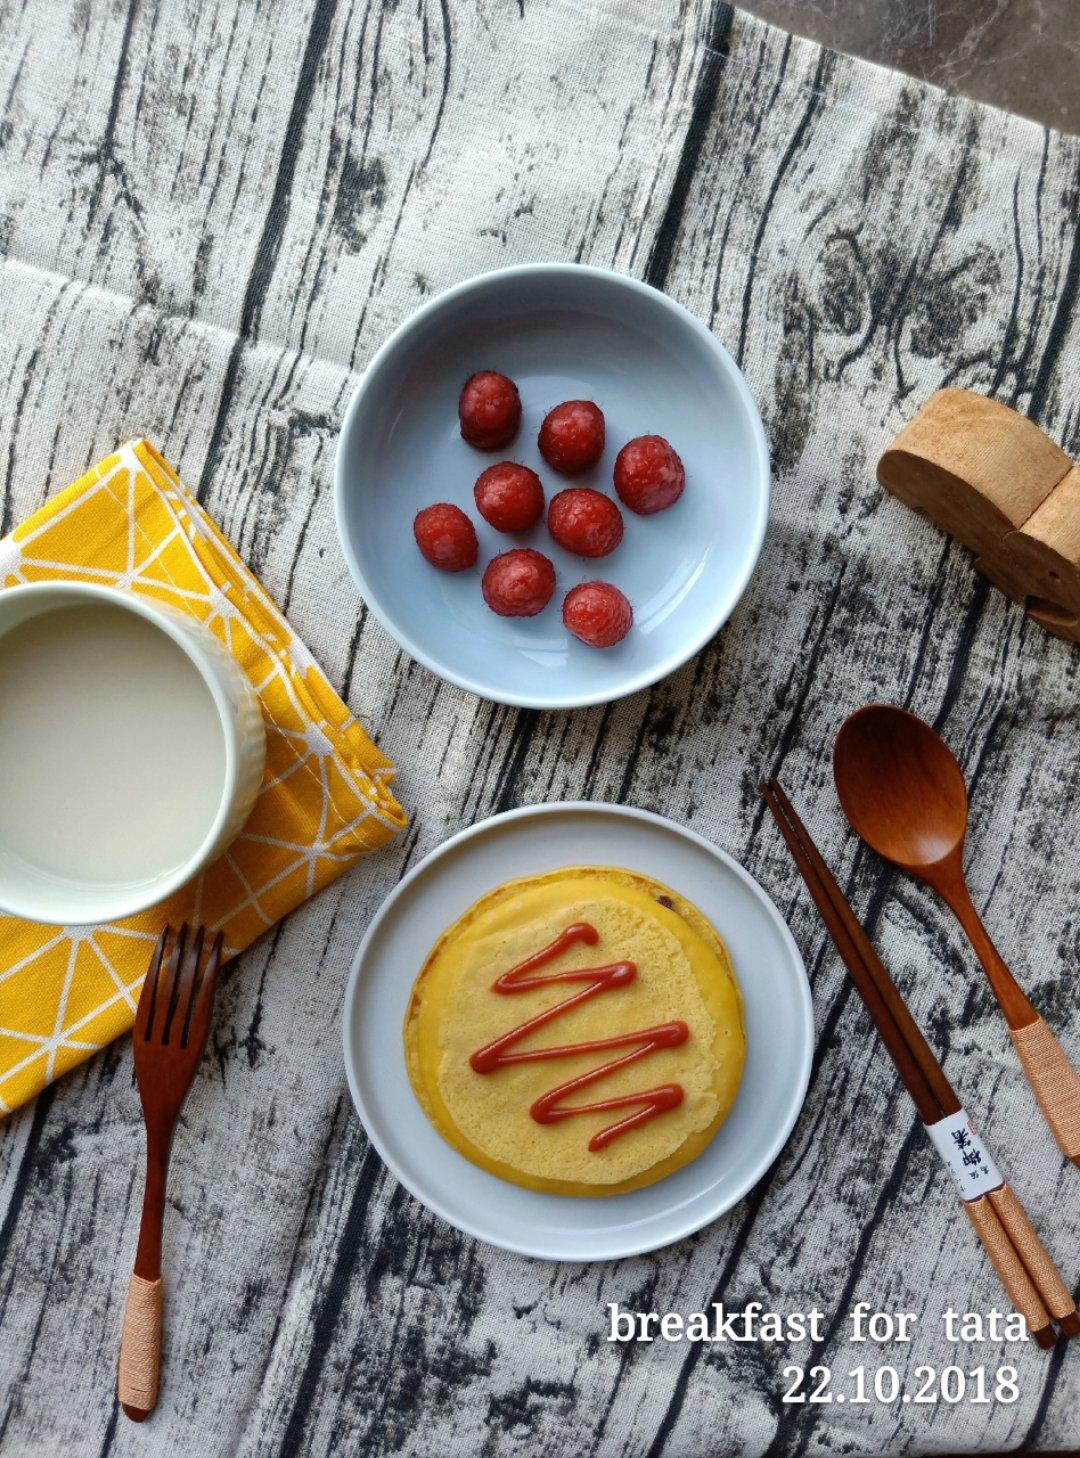
<svg viewBox="0 0 1080 1458">
<path fill-rule="evenodd" d="M 614 991 L 617 987 L 625 987 L 627 983 L 633 983 L 637 977 L 634 962 L 611 962 L 608 967 L 579 967 L 568 972 L 535 975 L 538 968 L 561 956 L 576 942 L 596 946 L 599 939 L 599 933 L 587 921 L 574 921 L 566 932 L 560 932 L 549 946 L 528 956 L 517 967 L 512 967 L 509 972 L 503 972 L 491 984 L 493 993 L 523 993 L 531 987 L 545 987 L 548 983 L 584 983 L 584 987 L 582 987 L 580 993 L 573 993 L 561 1003 L 555 1003 L 554 1007 L 536 1013 L 535 1018 L 529 1018 L 528 1022 L 519 1024 L 510 1032 L 504 1032 L 500 1038 L 478 1048 L 469 1059 L 469 1066 L 477 1073 L 494 1073 L 497 1069 L 506 1069 L 513 1063 L 547 1063 L 552 1059 L 571 1059 L 580 1053 L 602 1053 L 605 1048 L 630 1047 L 631 1051 L 624 1053 L 621 1059 L 602 1063 L 600 1067 L 592 1069 L 589 1073 L 582 1073 L 576 1079 L 568 1079 L 548 1094 L 541 1094 L 529 1110 L 538 1124 L 554 1124 L 561 1118 L 573 1118 L 576 1114 L 595 1114 L 609 1108 L 633 1108 L 633 1114 L 627 1114 L 625 1118 L 619 1118 L 593 1134 L 589 1140 L 589 1149 L 593 1153 L 605 1149 L 619 1134 L 628 1134 L 631 1128 L 640 1128 L 641 1124 L 647 1124 L 657 1114 L 666 1114 L 669 1110 L 678 1108 L 684 1099 L 682 1085 L 662 1083 L 659 1088 L 644 1089 L 641 1094 L 622 1094 L 619 1098 L 599 1099 L 595 1104 L 573 1104 L 567 1107 L 561 1099 L 570 1094 L 576 1094 L 579 1089 L 599 1083 L 600 1079 L 606 1079 L 617 1069 L 625 1069 L 630 1063 L 647 1059 L 660 1048 L 678 1048 L 689 1037 L 689 1028 L 685 1022 L 662 1022 L 654 1028 L 643 1028 L 640 1032 L 621 1032 L 614 1038 L 567 1042 L 555 1048 L 532 1048 L 528 1053 L 510 1051 L 514 1044 L 528 1038 L 531 1032 L 547 1026 L 555 1018 L 561 1018 L 571 1007 L 580 1007 L 590 997 L 599 997 L 600 993 Z"/>
</svg>

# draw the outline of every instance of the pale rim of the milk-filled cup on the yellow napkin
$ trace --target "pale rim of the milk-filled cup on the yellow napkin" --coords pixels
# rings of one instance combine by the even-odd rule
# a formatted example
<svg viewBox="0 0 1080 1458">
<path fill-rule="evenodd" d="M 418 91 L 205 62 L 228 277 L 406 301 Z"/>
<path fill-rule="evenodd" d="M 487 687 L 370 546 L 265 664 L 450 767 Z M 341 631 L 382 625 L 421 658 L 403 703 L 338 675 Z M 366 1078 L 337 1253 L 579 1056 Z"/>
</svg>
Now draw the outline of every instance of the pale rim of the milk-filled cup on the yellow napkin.
<svg viewBox="0 0 1080 1458">
<path fill-rule="evenodd" d="M 163 633 L 168 639 L 175 643 L 175 646 L 184 653 L 188 662 L 195 668 L 198 677 L 203 679 L 203 685 L 213 700 L 214 709 L 217 710 L 217 720 L 222 729 L 222 738 L 224 741 L 224 767 L 222 771 L 222 793 L 217 802 L 217 809 L 214 811 L 214 818 L 210 824 L 207 834 L 198 844 L 198 849 L 188 856 L 188 859 L 172 868 L 171 870 L 159 872 L 147 881 L 141 882 L 103 882 L 101 886 L 90 884 L 90 892 L 98 897 L 96 905 L 90 905 L 93 895 L 86 895 L 83 904 L 74 900 L 73 886 L 86 889 L 83 882 L 67 881 L 61 878 L 51 878 L 55 884 L 55 910 L 54 920 L 51 926 L 108 926 L 114 921 L 125 921 L 130 917 L 141 916 L 144 911 L 150 911 L 153 907 L 166 901 L 171 895 L 185 886 L 192 881 L 201 870 L 210 865 L 214 847 L 220 840 L 222 831 L 224 830 L 229 814 L 232 811 L 233 800 L 236 799 L 236 786 L 239 781 L 239 730 L 236 728 L 232 706 L 229 704 L 224 690 L 222 688 L 217 677 L 207 665 L 207 656 L 211 649 L 204 644 L 198 636 L 192 636 L 189 625 L 184 618 L 171 611 L 166 605 L 146 598 L 136 592 L 127 592 L 121 588 L 112 588 L 101 582 L 82 582 L 77 577 L 55 577 L 44 579 L 41 582 L 23 582 L 15 583 L 10 588 L 4 588 L 0 593 L 4 607 L 10 602 L 20 601 L 35 601 L 35 599 L 67 599 L 73 605 L 87 604 L 87 602 L 105 602 L 111 607 L 120 608 L 125 612 L 133 612 L 136 617 L 143 618 L 150 623 L 159 633 Z M 48 611 L 44 608 L 42 611 Z M 191 620 L 191 625 L 201 627 L 197 618 Z M 0 637 L 7 633 L 7 627 L 0 620 Z M 128 892 L 127 895 L 124 892 Z M 67 901 L 64 898 L 69 898 Z M 7 916 L 19 917 L 22 920 L 41 921 L 39 910 L 28 910 L 25 905 L 17 904 L 17 898 L 12 898 L 9 891 L 4 888 L 0 879 L 0 913 Z"/>
</svg>

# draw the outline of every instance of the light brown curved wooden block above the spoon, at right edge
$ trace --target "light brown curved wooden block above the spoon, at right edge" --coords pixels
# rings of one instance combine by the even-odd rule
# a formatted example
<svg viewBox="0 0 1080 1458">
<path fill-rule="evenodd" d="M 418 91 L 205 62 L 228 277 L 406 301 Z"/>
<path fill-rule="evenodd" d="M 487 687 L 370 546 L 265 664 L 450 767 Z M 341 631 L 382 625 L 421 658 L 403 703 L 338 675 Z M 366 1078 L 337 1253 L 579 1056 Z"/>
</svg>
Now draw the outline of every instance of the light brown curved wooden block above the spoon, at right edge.
<svg viewBox="0 0 1080 1458">
<path fill-rule="evenodd" d="M 1025 416 L 939 389 L 877 462 L 877 480 L 963 547 L 1048 633 L 1080 642 L 1080 468 Z"/>
</svg>

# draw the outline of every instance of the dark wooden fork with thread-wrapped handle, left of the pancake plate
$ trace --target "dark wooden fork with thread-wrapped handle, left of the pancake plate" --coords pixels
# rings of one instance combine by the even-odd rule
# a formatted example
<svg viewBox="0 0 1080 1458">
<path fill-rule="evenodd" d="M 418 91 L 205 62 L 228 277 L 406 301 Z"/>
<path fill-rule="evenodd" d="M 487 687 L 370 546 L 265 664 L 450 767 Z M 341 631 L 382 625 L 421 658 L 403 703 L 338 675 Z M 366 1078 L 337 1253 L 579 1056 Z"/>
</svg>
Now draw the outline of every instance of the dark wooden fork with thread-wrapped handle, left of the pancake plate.
<svg viewBox="0 0 1080 1458">
<path fill-rule="evenodd" d="M 124 1306 L 117 1395 L 141 1423 L 157 1403 L 162 1359 L 162 1216 L 172 1131 L 203 1057 L 222 965 L 222 933 L 203 955 L 207 932 L 187 923 L 172 942 L 162 932 L 136 1013 L 134 1054 L 146 1124 L 146 1188 L 136 1268 Z"/>
</svg>

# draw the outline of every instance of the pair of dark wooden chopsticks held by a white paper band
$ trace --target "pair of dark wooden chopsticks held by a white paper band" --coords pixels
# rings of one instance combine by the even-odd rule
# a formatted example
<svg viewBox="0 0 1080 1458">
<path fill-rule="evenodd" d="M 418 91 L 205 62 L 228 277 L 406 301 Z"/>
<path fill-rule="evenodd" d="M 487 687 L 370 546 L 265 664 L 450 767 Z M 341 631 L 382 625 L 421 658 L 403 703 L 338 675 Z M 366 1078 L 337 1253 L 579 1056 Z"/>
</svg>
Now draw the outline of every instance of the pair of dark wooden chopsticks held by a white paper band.
<svg viewBox="0 0 1080 1458">
<path fill-rule="evenodd" d="M 889 1057 L 918 1110 L 934 1147 L 949 1166 L 968 1219 L 982 1241 L 1009 1298 L 1041 1347 L 1061 1334 L 1080 1334 L 1073 1295 L 1028 1213 L 998 1172 L 985 1145 L 911 1016 L 899 989 L 870 945 L 858 919 L 825 865 L 809 831 L 777 780 L 761 786 L 799 872 L 821 911 L 856 991 L 866 1003 Z"/>
</svg>

